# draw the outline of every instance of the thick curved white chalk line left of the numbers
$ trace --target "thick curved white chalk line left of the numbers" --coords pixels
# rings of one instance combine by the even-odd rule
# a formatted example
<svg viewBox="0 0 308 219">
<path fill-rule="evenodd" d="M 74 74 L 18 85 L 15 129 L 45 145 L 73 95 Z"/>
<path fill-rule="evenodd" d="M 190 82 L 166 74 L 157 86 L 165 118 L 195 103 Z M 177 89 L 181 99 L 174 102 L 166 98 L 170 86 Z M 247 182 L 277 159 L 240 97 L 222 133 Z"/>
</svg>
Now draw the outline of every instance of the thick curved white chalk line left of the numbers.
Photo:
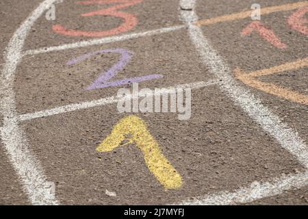
<svg viewBox="0 0 308 219">
<path fill-rule="evenodd" d="M 5 54 L 5 64 L 0 75 L 1 112 L 3 127 L 1 138 L 5 152 L 23 184 L 23 190 L 33 205 L 57 205 L 59 202 L 53 194 L 52 185 L 44 176 L 44 171 L 38 159 L 31 153 L 25 133 L 18 126 L 15 95 L 13 90 L 14 73 L 22 59 L 22 49 L 29 29 L 34 22 L 56 0 L 45 0 L 22 23 L 12 36 Z"/>
</svg>

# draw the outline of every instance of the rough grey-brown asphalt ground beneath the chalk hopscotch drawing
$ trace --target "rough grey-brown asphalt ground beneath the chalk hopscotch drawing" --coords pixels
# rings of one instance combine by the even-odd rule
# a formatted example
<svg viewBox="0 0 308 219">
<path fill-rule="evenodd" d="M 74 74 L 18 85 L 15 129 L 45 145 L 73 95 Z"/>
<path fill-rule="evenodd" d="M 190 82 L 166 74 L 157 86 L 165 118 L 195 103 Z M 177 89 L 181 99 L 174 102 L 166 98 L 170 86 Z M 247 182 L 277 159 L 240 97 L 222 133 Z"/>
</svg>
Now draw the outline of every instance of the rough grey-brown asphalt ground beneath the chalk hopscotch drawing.
<svg viewBox="0 0 308 219">
<path fill-rule="evenodd" d="M 0 1 L 1 79 L 7 74 L 4 66 L 9 62 L 5 57 L 9 53 L 10 39 L 41 2 Z M 135 27 L 120 34 L 67 36 L 52 29 L 53 25 L 58 24 L 84 31 L 116 28 L 123 23 L 120 18 L 106 15 L 81 17 L 80 14 L 117 5 L 120 1 L 110 5 L 81 5 L 75 0 L 66 0 L 55 4 L 55 21 L 48 21 L 44 12 L 31 26 L 22 48 L 22 51 L 30 52 L 23 55 L 14 70 L 14 100 L 5 99 L 5 88 L 1 91 L 0 204 L 48 204 L 49 198 L 44 192 L 34 198 L 39 190 L 34 185 L 44 178 L 55 183 L 52 203 L 62 205 L 307 205 L 308 107 L 305 101 L 296 101 L 296 98 L 298 94 L 308 95 L 308 64 L 304 61 L 306 64 L 299 68 L 294 62 L 307 59 L 308 40 L 307 34 L 291 28 L 288 23 L 288 18 L 294 12 L 308 7 L 307 1 L 199 0 L 193 8 L 180 8 L 177 0 L 136 2 L 136 5 L 120 9 L 137 19 Z M 307 4 L 305 7 L 302 5 L 288 9 L 290 3 L 299 2 Z M 241 35 L 243 29 L 253 22 L 250 16 L 209 25 L 193 25 L 202 30 L 203 37 L 215 49 L 217 57 L 227 64 L 238 84 L 236 86 L 248 90 L 260 100 L 258 104 L 277 116 L 279 123 L 274 125 L 270 123 L 272 117 L 267 114 L 260 119 L 266 121 L 265 125 L 254 118 L 253 115 L 262 107 L 249 113 L 245 104 L 243 107 L 236 101 L 238 96 L 232 98 L 229 91 L 221 88 L 229 82 L 217 77 L 218 72 L 214 73 L 213 68 L 204 61 L 199 51 L 205 45 L 196 43 L 198 40 L 192 37 L 194 27 L 189 25 L 151 36 L 126 40 L 112 38 L 106 43 L 63 47 L 57 51 L 47 49 L 185 25 L 185 13 L 195 12 L 198 21 L 236 14 L 251 10 L 253 3 L 259 3 L 261 10 L 289 4 L 283 10 L 262 14 L 260 21 L 264 27 L 274 31 L 281 42 L 287 45 L 286 48 L 275 47 L 257 31 L 251 36 Z M 300 28 L 303 29 L 305 25 L 308 28 L 307 19 L 308 13 L 304 13 L 296 22 L 302 22 Z M 42 49 L 42 52 L 34 54 L 33 51 L 44 47 L 46 49 Z M 192 89 L 192 116 L 189 120 L 179 120 L 177 114 L 170 112 L 133 114 L 144 120 L 162 154 L 181 176 L 179 188 L 166 189 L 155 178 L 144 162 L 144 153 L 135 143 L 117 147 L 110 152 L 97 151 L 97 146 L 112 133 L 114 125 L 131 115 L 120 114 L 117 103 L 59 112 L 58 107 L 108 99 L 116 96 L 119 88 L 131 88 L 131 85 L 122 85 L 85 89 L 101 72 L 118 62 L 121 58 L 119 53 L 92 55 L 83 62 L 67 64 L 81 55 L 107 49 L 125 49 L 132 54 L 131 61 L 112 81 L 152 74 L 164 76 L 140 82 L 140 89 L 217 81 L 216 84 Z M 278 90 L 279 94 L 266 92 L 265 88 L 253 87 L 235 78 L 234 70 L 237 68 L 248 74 L 288 63 L 291 63 L 292 69 L 261 75 L 257 80 L 293 90 L 296 92 L 294 98 L 289 98 L 282 90 Z M 230 83 L 233 88 L 233 82 Z M 16 143 L 20 140 L 14 137 L 16 129 L 10 129 L 8 108 L 3 105 L 12 101 L 16 115 L 22 118 L 18 121 L 18 130 L 23 130 L 21 142 L 26 142 L 27 146 Z M 251 103 L 251 99 L 248 99 L 247 105 L 248 102 Z M 44 114 L 51 109 L 56 109 L 57 113 L 33 117 L 36 112 Z M 275 132 L 275 127 L 280 126 L 283 131 Z M 5 130 L 11 132 L 5 134 Z M 296 133 L 296 142 L 303 142 L 304 148 L 292 141 L 292 131 Z M 19 146 L 14 147 L 15 144 Z M 24 151 L 27 153 L 21 156 L 23 162 L 19 162 L 18 155 Z M 27 156 L 28 152 L 30 157 Z M 31 160 L 33 157 L 36 162 Z M 155 162 L 159 164 L 160 161 Z M 42 177 L 42 173 L 44 177 L 31 177 L 33 166 L 41 172 L 36 177 Z M 288 177 L 294 179 L 287 181 Z M 283 183 L 279 184 L 280 181 Z M 256 190 L 251 189 L 254 185 Z M 244 192 L 238 192 L 240 190 Z M 114 192 L 114 195 L 109 192 Z"/>
</svg>

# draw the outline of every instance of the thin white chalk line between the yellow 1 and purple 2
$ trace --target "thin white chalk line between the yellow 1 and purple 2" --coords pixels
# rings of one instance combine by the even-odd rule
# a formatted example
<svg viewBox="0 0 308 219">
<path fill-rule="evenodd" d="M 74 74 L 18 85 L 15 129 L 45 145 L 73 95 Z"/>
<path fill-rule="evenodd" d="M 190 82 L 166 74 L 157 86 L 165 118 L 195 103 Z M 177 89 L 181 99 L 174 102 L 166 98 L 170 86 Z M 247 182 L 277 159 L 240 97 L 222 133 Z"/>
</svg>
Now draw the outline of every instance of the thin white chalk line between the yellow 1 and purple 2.
<svg viewBox="0 0 308 219">
<path fill-rule="evenodd" d="M 157 92 L 157 94 L 169 92 L 171 89 L 175 89 L 175 88 L 183 88 L 183 89 L 185 89 L 185 88 L 190 88 L 190 89 L 205 88 L 207 86 L 212 86 L 212 85 L 215 85 L 217 83 L 219 83 L 219 81 L 207 81 L 207 82 L 198 81 L 198 82 L 193 82 L 193 83 L 185 83 L 185 84 L 166 88 L 165 90 L 162 90 L 162 92 Z M 154 91 L 154 90 L 155 89 L 153 89 L 152 91 Z M 112 103 L 118 103 L 118 101 L 125 100 L 125 99 L 134 99 L 134 97 L 133 96 L 126 96 L 125 98 L 118 99 L 117 96 L 110 96 L 110 97 L 107 97 L 107 98 L 98 99 L 98 100 L 94 100 L 94 101 L 85 101 L 85 102 L 82 102 L 82 103 L 64 105 L 64 106 L 61 106 L 61 107 L 55 107 L 55 108 L 50 109 L 50 110 L 42 110 L 42 111 L 39 111 L 39 112 L 33 112 L 33 113 L 29 113 L 29 114 L 21 114 L 21 115 L 18 116 L 18 120 L 19 121 L 33 120 L 35 118 L 54 116 L 54 115 L 57 115 L 57 114 L 64 114 L 64 113 L 73 112 L 73 111 L 76 111 L 76 110 L 85 110 L 85 109 L 88 109 L 90 107 L 98 107 L 98 106 L 108 105 L 108 104 L 112 104 Z"/>
</svg>

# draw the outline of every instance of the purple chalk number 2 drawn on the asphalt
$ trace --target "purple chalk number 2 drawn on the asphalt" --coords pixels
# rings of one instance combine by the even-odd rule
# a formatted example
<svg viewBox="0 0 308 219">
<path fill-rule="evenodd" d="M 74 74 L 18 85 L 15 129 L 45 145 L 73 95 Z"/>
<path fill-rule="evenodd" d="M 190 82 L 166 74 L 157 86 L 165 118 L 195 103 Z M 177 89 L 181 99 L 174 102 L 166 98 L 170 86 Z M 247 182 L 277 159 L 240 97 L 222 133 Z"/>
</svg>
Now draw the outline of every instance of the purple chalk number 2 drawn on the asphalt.
<svg viewBox="0 0 308 219">
<path fill-rule="evenodd" d="M 121 86 L 121 85 L 126 85 L 126 84 L 131 84 L 131 83 L 139 83 L 142 81 L 149 81 L 153 79 L 159 79 L 164 77 L 164 75 L 146 75 L 143 77 L 132 77 L 128 79 L 122 79 L 118 81 L 110 81 L 112 77 L 115 77 L 118 72 L 123 70 L 123 68 L 131 61 L 131 56 L 133 55 L 132 51 L 129 51 L 127 49 L 105 49 L 105 50 L 100 50 L 92 53 L 88 53 L 85 55 L 81 55 L 73 60 L 70 60 L 67 62 L 68 65 L 73 65 L 77 64 L 79 62 L 82 62 L 86 60 L 88 57 L 91 57 L 92 55 L 99 55 L 103 53 L 120 53 L 121 57 L 120 60 L 114 64 L 109 70 L 101 73 L 99 75 L 99 78 L 94 81 L 86 90 L 94 90 L 94 89 L 99 89 L 99 88 L 108 88 L 108 87 L 114 87 L 114 86 Z"/>
</svg>

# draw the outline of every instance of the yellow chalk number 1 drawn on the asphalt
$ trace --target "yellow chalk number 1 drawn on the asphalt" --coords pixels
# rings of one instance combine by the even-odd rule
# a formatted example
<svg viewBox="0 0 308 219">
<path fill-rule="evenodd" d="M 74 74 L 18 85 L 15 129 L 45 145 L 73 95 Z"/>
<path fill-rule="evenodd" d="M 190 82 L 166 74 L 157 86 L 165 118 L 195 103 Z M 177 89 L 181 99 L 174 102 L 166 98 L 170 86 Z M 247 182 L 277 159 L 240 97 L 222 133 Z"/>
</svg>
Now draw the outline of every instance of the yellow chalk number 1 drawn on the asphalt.
<svg viewBox="0 0 308 219">
<path fill-rule="evenodd" d="M 129 139 L 127 139 L 129 136 Z M 127 116 L 114 126 L 112 133 L 97 147 L 99 152 L 110 152 L 124 140 L 136 144 L 143 153 L 149 170 L 166 189 L 177 189 L 182 185 L 181 175 L 168 162 L 159 144 L 146 127 L 144 120 L 138 116 Z"/>
</svg>

